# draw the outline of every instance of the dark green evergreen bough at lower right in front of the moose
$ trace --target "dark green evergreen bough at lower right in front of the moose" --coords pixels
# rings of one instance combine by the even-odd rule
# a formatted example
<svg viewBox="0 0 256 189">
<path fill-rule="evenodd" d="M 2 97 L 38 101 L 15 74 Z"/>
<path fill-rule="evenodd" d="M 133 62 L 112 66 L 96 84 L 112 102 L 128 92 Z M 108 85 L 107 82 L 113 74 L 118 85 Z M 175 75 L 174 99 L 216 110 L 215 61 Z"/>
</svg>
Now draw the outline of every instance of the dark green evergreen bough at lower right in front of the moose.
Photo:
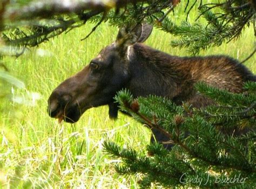
<svg viewBox="0 0 256 189">
<path fill-rule="evenodd" d="M 151 143 L 144 151 L 105 141 L 120 174 L 139 174 L 141 187 L 254 188 L 256 187 L 256 90 L 245 83 L 244 94 L 198 83 L 201 94 L 216 104 L 205 108 L 177 106 L 159 96 L 134 99 L 127 90 L 116 96 L 120 109 L 169 137 L 173 148 Z M 238 134 L 225 132 L 239 130 Z"/>
</svg>

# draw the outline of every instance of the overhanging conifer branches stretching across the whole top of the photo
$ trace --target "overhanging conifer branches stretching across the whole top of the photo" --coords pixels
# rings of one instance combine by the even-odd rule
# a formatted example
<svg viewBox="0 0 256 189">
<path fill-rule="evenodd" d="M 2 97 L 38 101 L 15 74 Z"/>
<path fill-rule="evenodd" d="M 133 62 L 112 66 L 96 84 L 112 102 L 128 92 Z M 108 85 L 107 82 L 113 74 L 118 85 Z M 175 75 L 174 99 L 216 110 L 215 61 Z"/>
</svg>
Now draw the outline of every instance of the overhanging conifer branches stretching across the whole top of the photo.
<svg viewBox="0 0 256 189">
<path fill-rule="evenodd" d="M 184 4 L 187 17 L 193 8 L 198 8 L 196 21 L 206 20 L 206 24 L 191 24 L 187 19 L 176 24 L 171 12 L 175 14 L 180 2 Z M 95 23 L 91 33 L 103 22 L 118 27 L 151 23 L 180 37 L 171 41 L 173 47 L 187 47 L 189 52 L 197 54 L 210 46 L 237 39 L 251 24 L 255 27 L 256 9 L 256 3 L 251 0 L 212 0 L 210 3 L 202 0 L 4 0 L 0 5 L 0 31 L 4 31 L 1 38 L 6 45 L 15 48 L 11 55 L 16 56 L 28 47 L 38 46 L 87 22 Z"/>
</svg>

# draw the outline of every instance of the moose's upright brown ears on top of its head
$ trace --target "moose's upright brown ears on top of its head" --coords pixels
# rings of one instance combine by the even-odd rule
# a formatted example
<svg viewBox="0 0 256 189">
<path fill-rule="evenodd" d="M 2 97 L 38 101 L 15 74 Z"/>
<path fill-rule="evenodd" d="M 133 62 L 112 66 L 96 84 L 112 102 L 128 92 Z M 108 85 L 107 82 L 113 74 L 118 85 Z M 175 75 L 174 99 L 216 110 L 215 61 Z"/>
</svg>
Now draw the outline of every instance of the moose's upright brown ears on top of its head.
<svg viewBox="0 0 256 189">
<path fill-rule="evenodd" d="M 122 27 L 117 35 L 116 47 L 127 48 L 134 43 L 143 43 L 149 38 L 153 26 L 149 24 L 137 24 L 133 27 Z"/>
</svg>

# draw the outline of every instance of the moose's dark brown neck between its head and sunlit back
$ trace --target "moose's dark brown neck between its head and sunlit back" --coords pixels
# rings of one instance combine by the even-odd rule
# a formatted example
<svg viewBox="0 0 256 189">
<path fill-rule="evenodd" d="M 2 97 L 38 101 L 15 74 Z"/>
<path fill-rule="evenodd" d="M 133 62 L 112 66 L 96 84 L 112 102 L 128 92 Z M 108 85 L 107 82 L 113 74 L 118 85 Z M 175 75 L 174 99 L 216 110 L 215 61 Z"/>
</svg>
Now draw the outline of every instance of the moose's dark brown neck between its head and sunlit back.
<svg viewBox="0 0 256 189">
<path fill-rule="evenodd" d="M 126 88 L 135 97 L 153 94 L 173 99 L 180 93 L 184 74 L 178 69 L 177 57 L 134 44 L 129 61 L 131 80 Z"/>
</svg>

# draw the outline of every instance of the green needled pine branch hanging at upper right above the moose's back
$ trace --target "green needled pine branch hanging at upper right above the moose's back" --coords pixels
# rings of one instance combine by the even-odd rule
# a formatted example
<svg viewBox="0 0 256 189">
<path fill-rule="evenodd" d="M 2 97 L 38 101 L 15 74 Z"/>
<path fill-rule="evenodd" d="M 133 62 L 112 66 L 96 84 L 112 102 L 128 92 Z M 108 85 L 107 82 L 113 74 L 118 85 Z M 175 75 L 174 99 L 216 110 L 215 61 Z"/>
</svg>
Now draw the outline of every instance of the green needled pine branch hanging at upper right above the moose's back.
<svg viewBox="0 0 256 189">
<path fill-rule="evenodd" d="M 191 7 L 193 6 L 194 4 Z M 213 13 L 213 10 L 217 8 L 221 9 L 221 12 Z M 189 31 L 182 24 L 180 26 L 173 24 L 168 26 L 166 23 L 171 23 L 171 21 L 167 19 L 164 27 L 158 26 L 166 32 L 180 36 L 179 40 L 171 41 L 173 47 L 188 47 L 188 52 L 198 54 L 200 50 L 206 50 L 211 46 L 220 46 L 225 42 L 228 43 L 237 39 L 246 26 L 255 22 L 253 19 L 255 15 L 254 4 L 247 1 L 206 3 L 199 6 L 199 11 L 201 13 L 196 20 L 203 16 L 207 20 L 206 26 L 195 23 L 190 26 L 191 30 Z M 201 32 L 195 29 L 199 25 Z"/>
</svg>

